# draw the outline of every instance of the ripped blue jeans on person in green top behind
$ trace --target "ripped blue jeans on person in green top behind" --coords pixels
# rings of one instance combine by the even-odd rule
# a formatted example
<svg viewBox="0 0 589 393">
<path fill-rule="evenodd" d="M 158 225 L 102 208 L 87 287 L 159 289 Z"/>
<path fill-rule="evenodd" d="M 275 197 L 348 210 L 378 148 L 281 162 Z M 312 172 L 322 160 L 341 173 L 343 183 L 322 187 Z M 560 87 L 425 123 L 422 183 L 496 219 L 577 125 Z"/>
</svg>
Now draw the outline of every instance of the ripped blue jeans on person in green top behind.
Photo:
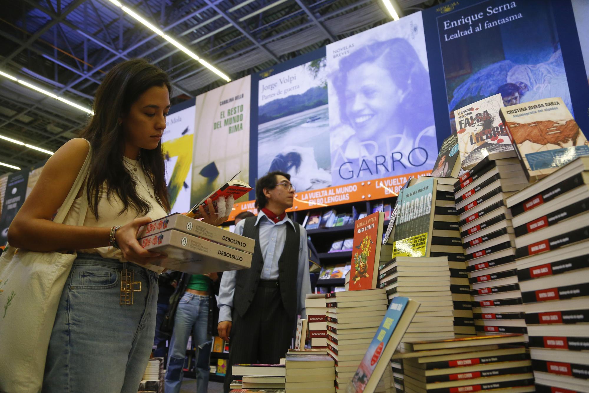
<svg viewBox="0 0 589 393">
<path fill-rule="evenodd" d="M 193 346 L 196 346 L 196 392 L 207 393 L 212 339 L 207 333 L 208 324 L 209 296 L 185 292 L 178 303 L 174 318 L 174 332 L 170 341 L 166 370 L 166 393 L 180 392 L 186 345 L 190 333 L 192 333 Z"/>
</svg>

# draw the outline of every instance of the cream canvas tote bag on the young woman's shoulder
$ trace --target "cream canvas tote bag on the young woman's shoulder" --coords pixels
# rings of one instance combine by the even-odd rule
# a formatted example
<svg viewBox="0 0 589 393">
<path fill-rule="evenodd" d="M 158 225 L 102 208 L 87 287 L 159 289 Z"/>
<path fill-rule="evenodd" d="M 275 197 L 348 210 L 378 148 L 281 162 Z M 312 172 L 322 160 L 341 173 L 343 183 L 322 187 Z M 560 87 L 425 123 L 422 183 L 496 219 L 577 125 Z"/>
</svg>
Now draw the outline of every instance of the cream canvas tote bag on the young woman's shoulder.
<svg viewBox="0 0 589 393">
<path fill-rule="evenodd" d="M 90 145 L 90 142 L 88 142 Z M 64 221 L 82 184 L 92 155 L 88 156 L 54 222 Z M 80 217 L 88 210 L 86 191 L 81 196 Z M 8 245 L 0 256 L 0 391 L 39 392 L 51 329 L 77 254 L 38 253 Z"/>
</svg>

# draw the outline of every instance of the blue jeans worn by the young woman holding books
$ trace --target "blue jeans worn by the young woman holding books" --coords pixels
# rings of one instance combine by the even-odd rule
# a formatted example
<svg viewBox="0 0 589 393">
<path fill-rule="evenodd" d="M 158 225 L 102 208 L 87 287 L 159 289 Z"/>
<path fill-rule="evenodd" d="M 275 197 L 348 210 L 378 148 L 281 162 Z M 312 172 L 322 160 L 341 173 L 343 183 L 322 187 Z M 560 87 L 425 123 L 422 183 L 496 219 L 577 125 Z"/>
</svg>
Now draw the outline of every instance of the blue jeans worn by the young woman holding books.
<svg viewBox="0 0 589 393">
<path fill-rule="evenodd" d="M 125 267 L 141 292 L 121 306 Z M 136 393 L 153 345 L 157 293 L 153 271 L 78 254 L 59 300 L 42 391 Z"/>
</svg>

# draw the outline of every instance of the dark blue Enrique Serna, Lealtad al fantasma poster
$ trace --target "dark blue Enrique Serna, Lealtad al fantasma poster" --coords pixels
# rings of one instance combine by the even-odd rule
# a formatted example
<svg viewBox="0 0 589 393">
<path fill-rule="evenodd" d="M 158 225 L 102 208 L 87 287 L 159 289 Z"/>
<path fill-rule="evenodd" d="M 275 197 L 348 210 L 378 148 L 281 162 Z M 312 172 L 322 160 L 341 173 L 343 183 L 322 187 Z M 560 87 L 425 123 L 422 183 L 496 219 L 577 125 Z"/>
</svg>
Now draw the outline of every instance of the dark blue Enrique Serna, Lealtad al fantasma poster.
<svg viewBox="0 0 589 393">
<path fill-rule="evenodd" d="M 498 93 L 505 106 L 562 97 L 573 113 L 552 14 L 550 0 L 488 0 L 436 16 L 451 116 Z"/>
</svg>

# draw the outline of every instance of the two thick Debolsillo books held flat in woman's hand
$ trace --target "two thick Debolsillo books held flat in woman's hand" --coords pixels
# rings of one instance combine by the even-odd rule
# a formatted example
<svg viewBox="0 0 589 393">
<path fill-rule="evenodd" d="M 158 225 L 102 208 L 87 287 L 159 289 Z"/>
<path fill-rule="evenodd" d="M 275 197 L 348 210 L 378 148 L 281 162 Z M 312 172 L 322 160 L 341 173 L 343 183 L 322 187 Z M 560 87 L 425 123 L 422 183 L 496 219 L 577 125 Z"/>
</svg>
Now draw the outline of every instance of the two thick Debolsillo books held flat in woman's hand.
<svg viewBox="0 0 589 393">
<path fill-rule="evenodd" d="M 144 225 L 137 237 L 145 250 L 165 256 L 156 266 L 191 274 L 249 268 L 256 243 L 179 213 Z"/>
</svg>

